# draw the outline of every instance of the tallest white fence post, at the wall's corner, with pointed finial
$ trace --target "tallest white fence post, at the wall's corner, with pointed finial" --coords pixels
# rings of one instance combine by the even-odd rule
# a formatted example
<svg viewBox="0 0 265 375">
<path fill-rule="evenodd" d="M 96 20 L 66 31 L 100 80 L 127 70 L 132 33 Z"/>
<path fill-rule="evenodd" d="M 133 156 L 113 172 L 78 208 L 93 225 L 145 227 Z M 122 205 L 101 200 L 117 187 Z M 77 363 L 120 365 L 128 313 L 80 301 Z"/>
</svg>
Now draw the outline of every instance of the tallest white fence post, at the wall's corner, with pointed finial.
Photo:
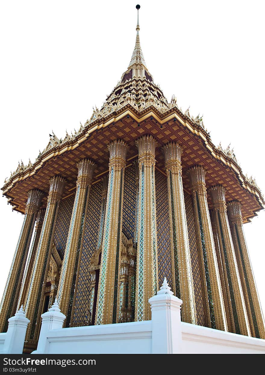
<svg viewBox="0 0 265 375">
<path fill-rule="evenodd" d="M 156 296 L 149 299 L 152 312 L 152 353 L 182 353 L 180 306 L 166 278 Z"/>
</svg>

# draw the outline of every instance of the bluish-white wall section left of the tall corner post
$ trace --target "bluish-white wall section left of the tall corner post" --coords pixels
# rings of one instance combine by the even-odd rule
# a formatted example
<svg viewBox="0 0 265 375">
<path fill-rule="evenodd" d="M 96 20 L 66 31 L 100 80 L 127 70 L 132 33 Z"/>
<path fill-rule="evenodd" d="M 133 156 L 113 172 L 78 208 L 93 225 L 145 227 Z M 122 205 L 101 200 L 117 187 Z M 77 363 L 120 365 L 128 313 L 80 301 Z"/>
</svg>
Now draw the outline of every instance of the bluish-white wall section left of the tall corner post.
<svg viewBox="0 0 265 375">
<path fill-rule="evenodd" d="M 55 329 L 47 336 L 44 350 L 40 352 L 38 345 L 33 353 L 152 353 L 151 321 Z"/>
</svg>

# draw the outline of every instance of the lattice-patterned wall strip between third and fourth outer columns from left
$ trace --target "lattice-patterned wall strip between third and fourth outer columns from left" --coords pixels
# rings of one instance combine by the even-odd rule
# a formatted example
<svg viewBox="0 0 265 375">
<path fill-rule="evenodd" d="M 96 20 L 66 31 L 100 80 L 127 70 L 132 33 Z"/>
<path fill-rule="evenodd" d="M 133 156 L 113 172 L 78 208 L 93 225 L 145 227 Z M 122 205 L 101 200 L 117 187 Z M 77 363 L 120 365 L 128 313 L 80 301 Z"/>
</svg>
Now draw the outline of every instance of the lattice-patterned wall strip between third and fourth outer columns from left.
<svg viewBox="0 0 265 375">
<path fill-rule="evenodd" d="M 88 303 L 90 298 L 90 274 L 88 266 L 91 256 L 97 248 L 101 214 L 102 182 L 91 186 L 86 212 L 82 255 L 79 266 L 76 299 L 74 303 L 73 326 L 86 326 Z"/>
</svg>

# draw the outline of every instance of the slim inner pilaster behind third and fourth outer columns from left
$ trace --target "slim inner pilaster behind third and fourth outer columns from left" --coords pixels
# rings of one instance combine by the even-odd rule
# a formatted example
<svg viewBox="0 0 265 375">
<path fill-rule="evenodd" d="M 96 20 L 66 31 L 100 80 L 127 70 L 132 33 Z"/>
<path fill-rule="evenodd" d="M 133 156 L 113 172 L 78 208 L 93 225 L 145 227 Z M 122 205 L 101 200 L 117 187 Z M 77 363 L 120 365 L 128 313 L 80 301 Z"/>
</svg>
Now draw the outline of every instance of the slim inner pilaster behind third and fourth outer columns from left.
<svg viewBox="0 0 265 375">
<path fill-rule="evenodd" d="M 104 229 L 104 218 L 106 213 L 106 199 L 108 192 L 108 181 L 109 176 L 102 178 L 102 193 L 101 193 L 101 216 L 100 216 L 100 229 L 98 233 L 97 250 L 93 254 L 89 265 L 89 273 L 91 274 L 91 292 L 90 292 L 90 303 L 89 303 L 89 322 L 93 326 L 95 324 L 95 314 L 97 307 L 97 296 L 98 296 L 98 281 L 99 281 L 99 270 L 100 270 L 100 249 L 102 249 L 102 237 Z"/>
</svg>

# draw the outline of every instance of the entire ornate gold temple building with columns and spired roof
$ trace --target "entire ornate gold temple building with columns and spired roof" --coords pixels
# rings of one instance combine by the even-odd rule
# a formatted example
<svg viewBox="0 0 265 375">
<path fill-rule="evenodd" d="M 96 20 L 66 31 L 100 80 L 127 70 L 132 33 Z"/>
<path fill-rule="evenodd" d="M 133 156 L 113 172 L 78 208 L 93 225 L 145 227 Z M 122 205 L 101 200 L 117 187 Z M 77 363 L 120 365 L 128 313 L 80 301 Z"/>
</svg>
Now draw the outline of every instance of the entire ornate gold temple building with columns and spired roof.
<svg viewBox="0 0 265 375">
<path fill-rule="evenodd" d="M 140 6 L 137 6 L 137 10 Z M 164 277 L 182 321 L 265 339 L 243 224 L 265 207 L 230 148 L 168 101 L 139 39 L 102 108 L 19 163 L 3 194 L 24 222 L 1 301 L 0 332 L 21 305 L 36 349 L 54 303 L 65 327 L 150 320 Z"/>
</svg>

